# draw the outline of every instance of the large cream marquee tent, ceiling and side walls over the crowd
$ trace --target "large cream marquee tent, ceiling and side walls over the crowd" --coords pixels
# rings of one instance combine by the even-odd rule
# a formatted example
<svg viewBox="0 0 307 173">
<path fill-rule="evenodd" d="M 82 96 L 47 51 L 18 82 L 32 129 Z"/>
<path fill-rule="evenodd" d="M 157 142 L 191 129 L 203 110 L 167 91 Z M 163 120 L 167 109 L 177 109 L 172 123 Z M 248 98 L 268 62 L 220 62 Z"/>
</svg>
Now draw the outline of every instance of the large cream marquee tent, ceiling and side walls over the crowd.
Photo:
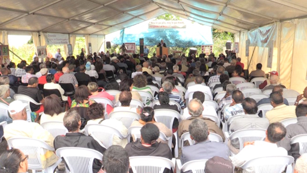
<svg viewBox="0 0 307 173">
<path fill-rule="evenodd" d="M 164 13 L 235 33 L 250 71 L 261 62 L 266 72 L 277 70 L 286 87 L 307 86 L 306 0 L 0 0 L 0 42 L 23 33 L 32 35 L 36 46 L 46 45 L 42 33 L 62 33 L 74 46 L 76 35 L 84 35 L 97 51 L 104 35 Z"/>
</svg>

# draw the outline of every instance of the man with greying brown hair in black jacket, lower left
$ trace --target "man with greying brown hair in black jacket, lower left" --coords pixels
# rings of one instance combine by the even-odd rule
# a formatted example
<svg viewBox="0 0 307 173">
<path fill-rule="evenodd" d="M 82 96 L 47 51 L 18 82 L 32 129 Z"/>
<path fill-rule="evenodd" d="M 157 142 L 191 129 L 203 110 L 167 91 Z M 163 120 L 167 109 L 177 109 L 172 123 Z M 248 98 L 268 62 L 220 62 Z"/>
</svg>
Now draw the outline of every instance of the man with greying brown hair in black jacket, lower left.
<svg viewBox="0 0 307 173">
<path fill-rule="evenodd" d="M 96 150 L 100 153 L 104 153 L 103 148 L 92 136 L 87 136 L 79 132 L 81 127 L 81 117 L 75 110 L 70 109 L 65 113 L 64 126 L 68 130 L 65 136 L 58 135 L 54 139 L 54 149 L 63 147 L 81 147 Z M 93 173 L 98 173 L 102 168 L 102 163 L 94 159 Z"/>
</svg>

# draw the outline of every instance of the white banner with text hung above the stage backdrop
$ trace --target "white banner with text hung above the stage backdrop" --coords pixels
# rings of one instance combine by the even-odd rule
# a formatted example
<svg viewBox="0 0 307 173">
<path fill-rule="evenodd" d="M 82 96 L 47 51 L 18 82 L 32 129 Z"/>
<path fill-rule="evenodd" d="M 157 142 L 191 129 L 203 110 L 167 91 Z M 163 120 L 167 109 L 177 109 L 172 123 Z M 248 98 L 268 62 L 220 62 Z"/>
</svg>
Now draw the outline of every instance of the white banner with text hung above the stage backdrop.
<svg viewBox="0 0 307 173">
<path fill-rule="evenodd" d="M 187 28 L 184 21 L 179 20 L 156 20 L 148 23 L 148 29 L 178 29 Z"/>
</svg>

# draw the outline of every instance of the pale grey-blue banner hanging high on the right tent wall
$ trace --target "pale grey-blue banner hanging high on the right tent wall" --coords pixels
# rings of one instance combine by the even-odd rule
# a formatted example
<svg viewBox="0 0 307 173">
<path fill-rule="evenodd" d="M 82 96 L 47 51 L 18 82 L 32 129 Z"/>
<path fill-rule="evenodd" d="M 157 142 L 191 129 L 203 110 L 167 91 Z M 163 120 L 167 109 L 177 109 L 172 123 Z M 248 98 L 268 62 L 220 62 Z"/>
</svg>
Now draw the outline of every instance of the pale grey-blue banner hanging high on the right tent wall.
<svg viewBox="0 0 307 173">
<path fill-rule="evenodd" d="M 272 40 L 276 40 L 277 37 L 277 25 L 270 25 L 266 27 L 257 28 L 248 32 L 248 39 L 250 40 L 250 46 L 268 47 L 268 43 Z"/>
</svg>

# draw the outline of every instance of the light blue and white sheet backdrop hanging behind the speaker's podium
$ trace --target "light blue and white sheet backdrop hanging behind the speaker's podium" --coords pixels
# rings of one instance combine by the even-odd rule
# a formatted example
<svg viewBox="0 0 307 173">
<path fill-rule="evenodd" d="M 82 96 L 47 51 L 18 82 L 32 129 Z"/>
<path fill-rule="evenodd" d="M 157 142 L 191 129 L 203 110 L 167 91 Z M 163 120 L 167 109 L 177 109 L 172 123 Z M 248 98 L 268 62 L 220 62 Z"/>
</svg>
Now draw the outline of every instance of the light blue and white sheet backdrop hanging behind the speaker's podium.
<svg viewBox="0 0 307 173">
<path fill-rule="evenodd" d="M 186 28 L 178 29 L 148 29 L 150 21 L 142 22 L 129 28 L 121 30 L 120 37 L 115 38 L 112 43 L 136 43 L 140 45 L 139 39 L 144 39 L 144 45 L 156 45 L 163 40 L 168 47 L 193 47 L 195 45 L 212 45 L 211 27 L 183 20 Z"/>
</svg>

